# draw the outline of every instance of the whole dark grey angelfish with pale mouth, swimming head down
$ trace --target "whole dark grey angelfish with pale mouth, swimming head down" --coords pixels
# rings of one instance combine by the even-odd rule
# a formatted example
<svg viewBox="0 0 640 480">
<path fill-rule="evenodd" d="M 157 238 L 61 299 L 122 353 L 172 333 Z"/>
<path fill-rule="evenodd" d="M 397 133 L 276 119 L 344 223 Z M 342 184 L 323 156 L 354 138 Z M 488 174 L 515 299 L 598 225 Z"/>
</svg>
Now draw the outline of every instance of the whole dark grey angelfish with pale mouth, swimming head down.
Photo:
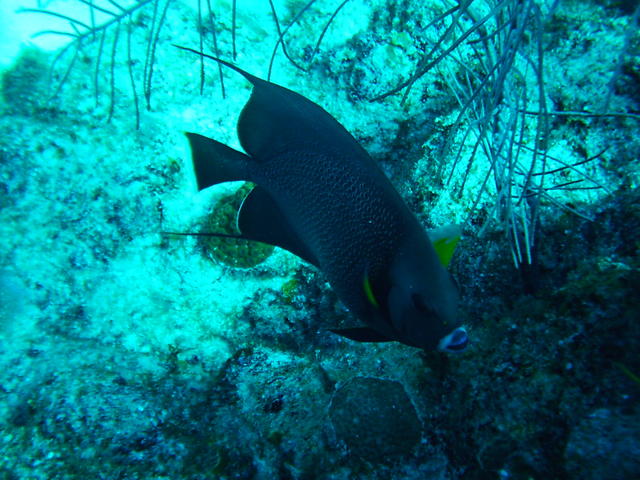
<svg viewBox="0 0 640 480">
<path fill-rule="evenodd" d="M 320 269 L 366 326 L 332 330 L 361 342 L 460 351 L 468 343 L 446 265 L 459 231 L 430 239 L 376 162 L 329 113 L 289 89 L 197 50 L 253 85 L 238 120 L 246 153 L 187 133 L 200 190 L 256 187 L 238 212 L 243 238 L 275 245 Z"/>
</svg>

